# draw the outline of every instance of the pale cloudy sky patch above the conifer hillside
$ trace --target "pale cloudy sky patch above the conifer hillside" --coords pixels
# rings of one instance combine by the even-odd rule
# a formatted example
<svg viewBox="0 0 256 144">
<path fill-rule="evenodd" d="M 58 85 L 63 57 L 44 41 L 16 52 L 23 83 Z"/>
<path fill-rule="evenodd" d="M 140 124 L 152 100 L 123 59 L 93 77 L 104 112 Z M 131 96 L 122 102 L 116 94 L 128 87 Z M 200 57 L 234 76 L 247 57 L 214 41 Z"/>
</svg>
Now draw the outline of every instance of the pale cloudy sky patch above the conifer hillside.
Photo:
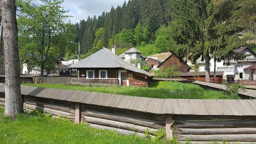
<svg viewBox="0 0 256 144">
<path fill-rule="evenodd" d="M 116 8 L 123 4 L 124 0 L 65 0 L 61 6 L 64 10 L 69 10 L 65 15 L 73 16 L 64 20 L 64 22 L 70 20 L 72 24 L 75 24 L 80 20 L 87 20 L 88 16 L 96 15 L 98 18 L 102 12 L 110 12 L 111 6 Z"/>
</svg>

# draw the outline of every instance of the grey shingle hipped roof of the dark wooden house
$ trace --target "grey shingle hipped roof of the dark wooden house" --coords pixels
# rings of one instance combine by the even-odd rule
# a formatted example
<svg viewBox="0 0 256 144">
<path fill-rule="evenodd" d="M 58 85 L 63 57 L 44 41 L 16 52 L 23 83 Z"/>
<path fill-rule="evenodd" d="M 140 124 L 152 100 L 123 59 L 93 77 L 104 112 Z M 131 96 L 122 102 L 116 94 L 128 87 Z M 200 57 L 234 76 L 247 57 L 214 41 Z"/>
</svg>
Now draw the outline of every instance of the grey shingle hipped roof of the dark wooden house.
<svg viewBox="0 0 256 144">
<path fill-rule="evenodd" d="M 102 48 L 87 58 L 72 64 L 68 68 L 124 68 L 126 70 L 138 72 L 147 76 L 155 76 L 154 74 L 139 69 L 136 66 L 122 60 L 122 58 L 118 57 L 107 48 Z"/>
</svg>

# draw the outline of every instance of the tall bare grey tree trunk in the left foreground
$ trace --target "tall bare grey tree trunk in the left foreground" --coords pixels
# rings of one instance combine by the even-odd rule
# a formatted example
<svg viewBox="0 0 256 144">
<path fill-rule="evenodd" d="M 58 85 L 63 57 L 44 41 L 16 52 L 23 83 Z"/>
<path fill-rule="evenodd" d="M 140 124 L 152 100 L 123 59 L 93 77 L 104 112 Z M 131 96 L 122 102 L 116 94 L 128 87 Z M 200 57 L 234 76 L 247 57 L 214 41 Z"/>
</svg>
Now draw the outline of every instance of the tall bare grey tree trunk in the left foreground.
<svg viewBox="0 0 256 144">
<path fill-rule="evenodd" d="M 15 0 L 1 0 L 5 65 L 5 115 L 16 118 L 23 113 L 20 93 L 18 24 Z"/>
</svg>

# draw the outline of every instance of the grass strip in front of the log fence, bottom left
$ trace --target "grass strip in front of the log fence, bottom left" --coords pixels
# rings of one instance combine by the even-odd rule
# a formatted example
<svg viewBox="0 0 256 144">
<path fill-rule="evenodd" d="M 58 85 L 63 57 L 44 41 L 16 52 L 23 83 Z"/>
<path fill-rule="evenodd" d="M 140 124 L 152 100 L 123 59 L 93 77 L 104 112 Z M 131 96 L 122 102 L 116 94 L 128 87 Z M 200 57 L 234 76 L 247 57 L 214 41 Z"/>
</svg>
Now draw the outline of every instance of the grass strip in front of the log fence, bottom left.
<svg viewBox="0 0 256 144">
<path fill-rule="evenodd" d="M 16 121 L 0 108 L 0 144 L 149 144 L 138 136 L 120 136 L 84 124 L 21 114 Z"/>
</svg>

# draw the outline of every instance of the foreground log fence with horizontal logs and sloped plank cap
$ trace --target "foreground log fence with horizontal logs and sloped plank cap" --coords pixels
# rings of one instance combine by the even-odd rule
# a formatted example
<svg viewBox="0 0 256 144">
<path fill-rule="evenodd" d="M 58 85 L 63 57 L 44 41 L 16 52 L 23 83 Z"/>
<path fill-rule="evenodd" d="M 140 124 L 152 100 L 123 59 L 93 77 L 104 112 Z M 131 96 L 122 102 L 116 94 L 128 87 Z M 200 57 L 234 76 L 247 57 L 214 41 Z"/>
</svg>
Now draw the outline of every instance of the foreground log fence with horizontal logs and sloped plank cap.
<svg viewBox="0 0 256 144">
<path fill-rule="evenodd" d="M 29 86 L 22 86 L 22 97 L 26 110 L 40 109 L 53 117 L 68 117 L 123 135 L 136 132 L 144 137 L 147 129 L 152 135 L 152 131 L 163 128 L 166 138 L 176 137 L 180 143 L 187 139 L 198 144 L 256 142 L 256 100 L 138 98 Z M 0 84 L 0 105 L 4 102 L 4 84 Z"/>
</svg>

